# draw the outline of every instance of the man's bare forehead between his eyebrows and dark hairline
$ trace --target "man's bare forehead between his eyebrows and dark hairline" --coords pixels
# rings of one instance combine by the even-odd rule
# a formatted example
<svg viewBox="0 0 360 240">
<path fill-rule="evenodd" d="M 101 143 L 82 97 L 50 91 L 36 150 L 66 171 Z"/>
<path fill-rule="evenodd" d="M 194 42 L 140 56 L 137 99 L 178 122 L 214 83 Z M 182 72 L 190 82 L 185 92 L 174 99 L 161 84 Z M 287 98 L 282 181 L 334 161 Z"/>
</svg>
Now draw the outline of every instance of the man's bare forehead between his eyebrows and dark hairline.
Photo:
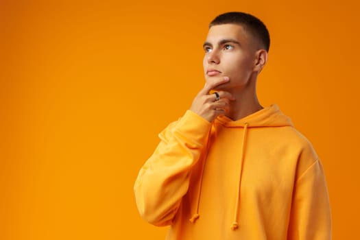
<svg viewBox="0 0 360 240">
<path fill-rule="evenodd" d="M 243 42 L 248 39 L 248 34 L 243 26 L 232 23 L 213 25 L 208 29 L 206 42 L 217 43 L 221 39 L 234 39 Z"/>
</svg>

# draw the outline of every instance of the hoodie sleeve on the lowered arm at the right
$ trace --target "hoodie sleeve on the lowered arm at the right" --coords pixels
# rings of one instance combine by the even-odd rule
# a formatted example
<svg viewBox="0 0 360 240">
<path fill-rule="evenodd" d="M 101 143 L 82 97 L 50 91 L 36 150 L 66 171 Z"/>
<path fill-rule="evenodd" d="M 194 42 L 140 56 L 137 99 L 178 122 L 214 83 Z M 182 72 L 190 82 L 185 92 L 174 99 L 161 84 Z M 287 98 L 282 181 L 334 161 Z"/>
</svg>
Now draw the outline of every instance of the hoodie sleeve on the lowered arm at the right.
<svg viewBox="0 0 360 240">
<path fill-rule="evenodd" d="M 331 239 L 331 208 L 320 160 L 300 175 L 294 191 L 287 239 Z"/>
</svg>

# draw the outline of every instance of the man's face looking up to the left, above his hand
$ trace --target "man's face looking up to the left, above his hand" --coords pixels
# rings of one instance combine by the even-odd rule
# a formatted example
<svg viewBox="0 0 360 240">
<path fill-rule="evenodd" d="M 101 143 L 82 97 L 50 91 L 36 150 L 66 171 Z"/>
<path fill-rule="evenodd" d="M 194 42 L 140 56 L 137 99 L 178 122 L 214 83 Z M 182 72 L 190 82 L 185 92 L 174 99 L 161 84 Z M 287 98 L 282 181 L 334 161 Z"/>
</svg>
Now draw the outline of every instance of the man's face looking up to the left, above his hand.
<svg viewBox="0 0 360 240">
<path fill-rule="evenodd" d="M 214 25 L 208 30 L 204 43 L 204 73 L 207 83 L 222 77 L 230 82 L 220 89 L 243 88 L 254 72 L 256 44 L 241 25 Z"/>
</svg>

